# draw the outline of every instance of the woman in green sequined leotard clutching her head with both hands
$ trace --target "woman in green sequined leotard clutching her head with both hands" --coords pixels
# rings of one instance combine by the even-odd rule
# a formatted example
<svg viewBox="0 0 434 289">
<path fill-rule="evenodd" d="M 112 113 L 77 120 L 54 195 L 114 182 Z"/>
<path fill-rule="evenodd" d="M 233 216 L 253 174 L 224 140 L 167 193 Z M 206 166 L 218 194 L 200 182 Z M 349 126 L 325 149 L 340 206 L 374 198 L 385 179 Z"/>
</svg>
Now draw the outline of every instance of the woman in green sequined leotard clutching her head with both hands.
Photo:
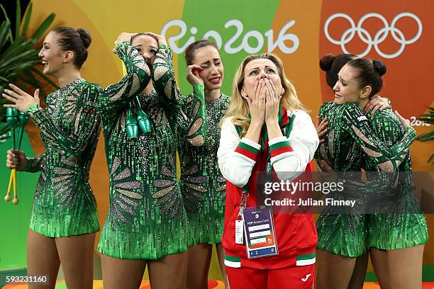
<svg viewBox="0 0 434 289">
<path fill-rule="evenodd" d="M 165 39 L 140 33 L 131 43 L 134 59 L 147 69 L 145 85 L 99 99 L 110 174 L 109 214 L 98 246 L 104 288 L 138 288 L 147 265 L 152 287 L 183 288 L 194 240 L 177 180 L 177 135 L 204 144 L 204 86 L 194 85 L 196 110 L 188 118 Z M 137 127 L 130 139 L 143 115 L 150 131 Z"/>
</svg>

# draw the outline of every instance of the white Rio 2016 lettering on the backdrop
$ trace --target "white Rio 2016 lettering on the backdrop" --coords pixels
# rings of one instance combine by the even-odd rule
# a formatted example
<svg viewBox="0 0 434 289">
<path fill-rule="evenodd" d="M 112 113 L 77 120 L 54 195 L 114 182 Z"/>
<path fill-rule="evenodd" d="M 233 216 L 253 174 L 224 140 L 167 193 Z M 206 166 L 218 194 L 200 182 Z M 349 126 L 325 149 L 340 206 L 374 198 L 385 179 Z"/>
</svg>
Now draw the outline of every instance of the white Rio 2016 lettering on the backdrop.
<svg viewBox="0 0 434 289">
<path fill-rule="evenodd" d="M 290 54 L 296 52 L 297 48 L 299 48 L 300 40 L 294 33 L 288 33 L 287 30 L 294 26 L 295 20 L 291 20 L 288 23 L 286 23 L 282 29 L 279 31 L 279 34 L 277 35 L 277 39 L 274 40 L 273 35 L 274 31 L 272 29 L 267 30 L 267 32 L 262 35 L 260 31 L 258 30 L 250 30 L 244 33 L 243 30 L 244 26 L 243 23 L 237 19 L 230 20 L 225 23 L 224 28 L 230 28 L 235 27 L 235 34 L 223 45 L 223 38 L 221 37 L 220 33 L 218 33 L 216 30 L 209 30 L 199 39 L 209 39 L 213 38 L 213 40 L 216 42 L 216 45 L 219 49 L 223 47 L 224 51 L 228 54 L 235 54 L 240 52 L 241 50 L 244 50 L 245 52 L 249 54 L 254 54 L 258 52 L 262 52 L 264 50 L 264 42 L 267 41 L 267 52 L 272 52 L 277 47 L 279 47 L 279 50 L 281 50 L 284 53 Z M 175 53 L 182 53 L 184 50 L 189 46 L 192 42 L 196 41 L 196 34 L 198 32 L 196 27 L 191 27 L 189 29 L 191 36 L 185 42 L 185 44 L 181 47 L 178 47 L 176 41 L 184 38 L 184 36 L 187 34 L 187 24 L 179 19 L 175 19 L 172 21 L 169 21 L 165 24 L 165 26 L 162 27 L 161 35 L 166 37 L 167 30 L 172 27 L 179 28 L 179 33 L 177 35 L 171 36 L 167 38 L 167 43 L 172 48 L 172 50 Z M 243 35 L 243 36 L 242 36 Z M 234 46 L 233 43 L 237 41 L 239 38 L 242 37 L 241 45 Z M 255 39 L 257 45 L 251 46 L 249 44 L 249 39 Z M 288 42 L 291 42 L 292 45 L 287 46 Z"/>
</svg>

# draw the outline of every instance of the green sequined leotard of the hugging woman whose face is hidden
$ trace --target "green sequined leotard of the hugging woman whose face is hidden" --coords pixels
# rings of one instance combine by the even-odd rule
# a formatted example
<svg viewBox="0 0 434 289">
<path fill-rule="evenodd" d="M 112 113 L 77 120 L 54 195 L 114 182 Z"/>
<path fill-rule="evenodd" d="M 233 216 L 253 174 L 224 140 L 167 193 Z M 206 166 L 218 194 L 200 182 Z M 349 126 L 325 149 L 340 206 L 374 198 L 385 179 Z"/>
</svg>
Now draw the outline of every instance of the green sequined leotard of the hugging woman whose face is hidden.
<svg viewBox="0 0 434 289">
<path fill-rule="evenodd" d="M 396 145 L 386 147 L 355 103 L 324 103 L 319 116 L 321 119 L 327 116 L 329 125 L 325 142 L 316 153 L 318 159 L 328 162 L 334 171 L 360 171 L 365 155 L 378 170 L 396 171 L 408 157 L 408 148 L 416 137 L 413 128 L 408 128 Z M 327 209 L 316 222 L 318 249 L 349 257 L 361 256 L 368 248 L 366 215 L 353 209 L 347 214 L 333 214 Z"/>
</svg>

